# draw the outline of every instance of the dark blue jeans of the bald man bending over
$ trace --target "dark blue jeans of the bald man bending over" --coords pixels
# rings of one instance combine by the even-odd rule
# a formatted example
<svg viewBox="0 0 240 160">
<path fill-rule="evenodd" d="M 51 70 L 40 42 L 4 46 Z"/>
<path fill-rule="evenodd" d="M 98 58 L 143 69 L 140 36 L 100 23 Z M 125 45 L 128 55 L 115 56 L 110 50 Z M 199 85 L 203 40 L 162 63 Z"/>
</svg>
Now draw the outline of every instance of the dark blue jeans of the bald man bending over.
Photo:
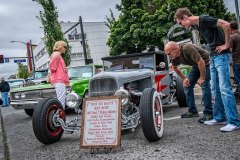
<svg viewBox="0 0 240 160">
<path fill-rule="evenodd" d="M 184 91 L 186 94 L 186 100 L 188 105 L 188 111 L 191 113 L 198 113 L 195 98 L 194 98 L 194 91 L 193 88 L 197 84 L 197 81 L 200 77 L 200 71 L 197 67 L 192 67 L 188 74 L 188 79 L 190 81 L 189 87 L 184 87 Z M 211 89 L 210 89 L 210 69 L 209 65 L 206 66 L 206 76 L 205 81 L 202 84 L 202 94 L 203 94 L 203 103 L 204 103 L 204 115 L 212 115 L 213 108 L 212 108 L 212 99 L 211 99 Z"/>
</svg>

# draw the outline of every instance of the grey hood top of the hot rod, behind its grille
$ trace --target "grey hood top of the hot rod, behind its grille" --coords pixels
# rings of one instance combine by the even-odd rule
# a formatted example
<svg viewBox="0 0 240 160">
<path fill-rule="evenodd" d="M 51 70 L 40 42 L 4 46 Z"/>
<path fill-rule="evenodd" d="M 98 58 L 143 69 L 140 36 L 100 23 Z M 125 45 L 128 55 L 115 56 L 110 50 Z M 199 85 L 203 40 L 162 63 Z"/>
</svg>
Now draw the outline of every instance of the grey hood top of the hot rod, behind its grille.
<svg viewBox="0 0 240 160">
<path fill-rule="evenodd" d="M 122 83 L 135 81 L 143 78 L 150 77 L 153 74 L 153 70 L 151 69 L 126 69 L 126 70 L 118 70 L 118 71 L 105 71 L 101 72 L 91 78 L 93 79 L 101 79 L 101 78 L 114 78 Z"/>
</svg>

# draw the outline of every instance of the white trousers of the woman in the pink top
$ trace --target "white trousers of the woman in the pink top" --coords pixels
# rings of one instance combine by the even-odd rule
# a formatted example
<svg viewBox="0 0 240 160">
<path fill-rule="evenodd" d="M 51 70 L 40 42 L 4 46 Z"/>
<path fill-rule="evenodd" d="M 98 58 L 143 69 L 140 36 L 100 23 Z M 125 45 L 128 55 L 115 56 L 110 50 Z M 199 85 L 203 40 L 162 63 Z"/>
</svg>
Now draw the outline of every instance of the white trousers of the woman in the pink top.
<svg viewBox="0 0 240 160">
<path fill-rule="evenodd" d="M 64 83 L 56 83 L 54 87 L 57 93 L 57 99 L 61 102 L 63 109 L 65 109 L 66 86 Z"/>
</svg>

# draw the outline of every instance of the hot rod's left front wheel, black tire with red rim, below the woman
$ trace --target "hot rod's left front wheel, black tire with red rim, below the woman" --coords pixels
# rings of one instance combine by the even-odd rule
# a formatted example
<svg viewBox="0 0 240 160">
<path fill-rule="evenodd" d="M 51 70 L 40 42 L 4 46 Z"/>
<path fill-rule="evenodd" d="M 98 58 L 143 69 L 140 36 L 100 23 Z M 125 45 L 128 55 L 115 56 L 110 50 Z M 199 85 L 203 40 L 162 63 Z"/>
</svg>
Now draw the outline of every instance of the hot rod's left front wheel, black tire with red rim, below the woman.
<svg viewBox="0 0 240 160">
<path fill-rule="evenodd" d="M 33 113 L 33 131 L 37 139 L 43 144 L 52 144 L 60 140 L 63 129 L 60 125 L 56 126 L 53 115 L 60 110 L 60 118 L 65 120 L 65 112 L 61 103 L 56 98 L 41 100 Z"/>
</svg>

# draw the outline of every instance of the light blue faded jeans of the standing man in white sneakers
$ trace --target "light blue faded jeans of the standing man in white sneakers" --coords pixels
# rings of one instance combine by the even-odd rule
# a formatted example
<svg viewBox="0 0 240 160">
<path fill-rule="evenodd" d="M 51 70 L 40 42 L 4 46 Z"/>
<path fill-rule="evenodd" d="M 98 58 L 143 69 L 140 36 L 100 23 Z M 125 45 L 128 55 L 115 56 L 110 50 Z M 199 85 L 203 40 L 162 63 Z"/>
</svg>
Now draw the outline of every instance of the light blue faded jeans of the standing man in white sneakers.
<svg viewBox="0 0 240 160">
<path fill-rule="evenodd" d="M 214 96 L 213 118 L 240 126 L 236 101 L 230 83 L 230 54 L 211 57 L 211 87 Z"/>
</svg>

